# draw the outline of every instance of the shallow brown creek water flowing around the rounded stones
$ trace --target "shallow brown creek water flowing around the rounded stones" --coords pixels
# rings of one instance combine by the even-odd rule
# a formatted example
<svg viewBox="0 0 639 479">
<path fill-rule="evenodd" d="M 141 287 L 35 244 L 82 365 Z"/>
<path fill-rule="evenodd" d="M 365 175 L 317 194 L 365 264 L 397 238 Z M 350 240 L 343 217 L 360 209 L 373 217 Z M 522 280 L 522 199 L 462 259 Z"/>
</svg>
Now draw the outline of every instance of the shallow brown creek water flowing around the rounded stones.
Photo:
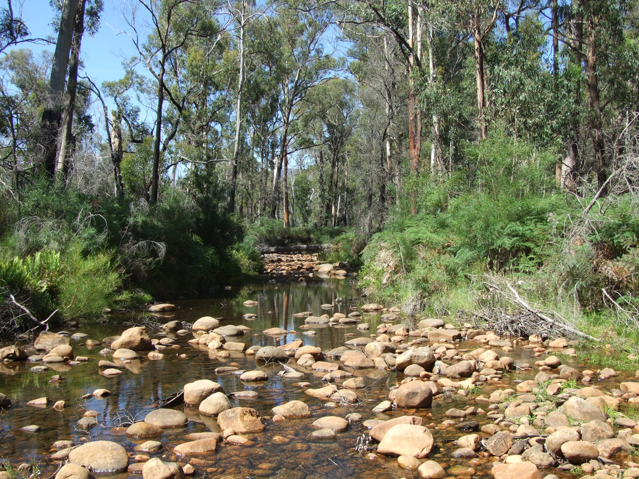
<svg viewBox="0 0 639 479">
<path fill-rule="evenodd" d="M 338 298 L 354 298 L 344 301 L 336 301 Z M 258 301 L 255 307 L 245 307 L 245 300 Z M 360 331 L 357 324 L 349 326 L 328 326 L 326 324 L 313 324 L 315 335 L 303 334 L 304 318 L 293 317 L 294 313 L 311 311 L 314 315 L 342 312 L 348 314 L 350 307 L 362 305 L 364 300 L 358 298 L 358 291 L 350 287 L 344 280 L 307 281 L 305 283 L 292 284 L 265 284 L 258 287 L 253 293 L 236 298 L 210 299 L 210 300 L 185 300 L 178 301 L 177 310 L 166 313 L 160 321 L 171 320 L 193 323 L 199 317 L 222 317 L 220 326 L 225 324 L 243 324 L 252 328 L 252 331 L 235 341 L 245 342 L 247 346 L 281 346 L 295 339 L 302 339 L 304 345 L 321 347 L 323 351 L 343 346 L 344 341 L 353 337 L 369 337 L 376 331 L 376 326 L 381 323 L 380 314 L 364 314 L 362 322 L 370 324 L 370 329 Z M 334 304 L 332 310 L 322 310 L 324 303 Z M 244 319 L 243 315 L 254 313 L 256 319 Z M 135 314 L 135 317 L 138 313 Z M 136 322 L 129 316 L 114 315 L 105 324 L 81 324 L 77 332 L 88 334 L 88 338 L 102 340 L 105 337 L 118 335 L 127 329 L 130 324 Z M 401 323 L 401 316 L 395 323 Z M 284 328 L 295 330 L 285 338 L 273 338 L 262 333 L 266 328 Z M 75 332 L 74 329 L 68 329 Z M 454 393 L 439 395 L 433 400 L 430 409 L 396 409 L 388 413 L 373 413 L 374 406 L 387 399 L 389 389 L 399 384 L 404 375 L 387 370 L 363 369 L 354 370 L 354 376 L 364 377 L 366 388 L 357 390 L 360 402 L 350 406 L 339 406 L 327 401 L 321 401 L 304 393 L 304 388 L 293 386 L 298 380 L 282 379 L 277 372 L 282 370 L 281 365 L 262 367 L 268 373 L 269 380 L 262 383 L 242 383 L 238 374 L 224 373 L 216 375 L 214 370 L 225 365 L 236 366 L 240 370 L 253 370 L 256 365 L 253 356 L 243 353 L 231 352 L 231 357 L 220 359 L 215 351 L 210 351 L 206 346 L 191 346 L 187 341 L 192 335 L 174 335 L 167 333 L 168 337 L 175 340 L 179 348 L 165 349 L 162 353 L 166 356 L 162 360 L 151 361 L 141 353 L 143 359 L 134 360 L 130 364 L 122 365 L 124 374 L 115 377 L 104 377 L 99 374 L 98 360 L 110 360 L 110 356 L 102 356 L 102 346 L 92 349 L 81 345 L 84 340 L 72 340 L 71 346 L 76 356 L 88 356 L 91 358 L 86 363 L 77 365 L 50 364 L 50 369 L 45 372 L 33 372 L 31 367 L 38 363 L 29 361 L 0 364 L 0 392 L 6 394 L 13 402 L 8 411 L 0 412 L 0 458 L 9 460 L 15 467 L 21 462 L 33 458 L 40 462 L 43 478 L 50 477 L 58 468 L 60 462 L 49 459 L 52 443 L 59 439 L 68 439 L 75 445 L 82 444 L 88 439 L 103 439 L 115 441 L 123 445 L 133 456 L 135 445 L 145 439 L 130 439 L 119 427 L 130 423 L 132 419 L 141 420 L 144 416 L 158 407 L 158 404 L 170 395 L 181 390 L 184 384 L 197 379 L 211 379 L 224 387 L 227 393 L 253 390 L 258 393 L 257 399 L 234 399 L 231 397 L 233 407 L 243 406 L 256 409 L 266 425 L 266 429 L 258 434 L 247 434 L 253 444 L 250 446 L 227 445 L 221 442 L 217 452 L 198 455 L 196 459 L 189 457 L 176 457 L 173 453 L 174 446 L 187 441 L 187 434 L 192 432 L 214 431 L 220 432 L 215 418 L 201 416 L 197 407 L 178 406 L 190 419 L 187 427 L 178 429 L 166 429 L 158 438 L 164 448 L 158 453 L 151 453 L 151 457 L 160 457 L 163 460 L 176 460 L 181 464 L 190 462 L 196 469 L 197 477 L 224 477 L 224 478 L 419 478 L 417 471 L 408 471 L 399 468 L 397 460 L 381 455 L 371 456 L 366 453 L 358 453 L 353 448 L 362 434 L 367 433 L 362 422 L 367 419 L 387 420 L 405 414 L 414 414 L 424 418 L 423 425 L 440 425 L 447 418 L 445 411 L 452 407 L 464 409 L 468 406 L 482 407 L 488 411 L 486 402 L 476 402 L 475 397 L 481 395 L 487 398 L 493 390 L 513 387 L 515 380 L 534 379 L 537 369 L 520 371 L 514 369 L 509 374 L 504 374 L 500 380 L 491 380 L 479 383 L 479 391 L 473 392 L 468 397 Z M 164 337 L 164 334 L 151 335 L 151 337 Z M 351 336 L 352 335 L 352 336 Z M 409 342 L 413 338 L 406 338 Z M 432 342 L 425 342 L 421 346 L 429 346 Z M 474 341 L 462 341 L 456 343 L 458 351 L 472 351 L 480 345 Z M 494 348 L 502 356 L 505 353 Z M 186 357 L 180 357 L 185 355 Z M 535 363 L 539 358 L 534 356 L 531 349 L 515 347 L 508 353 L 514 359 L 515 365 L 521 363 Z M 597 369 L 596 364 L 580 363 L 576 358 L 560 356 L 564 364 L 576 369 Z M 337 361 L 337 360 L 334 360 Z M 117 361 L 116 361 L 117 362 Z M 121 362 L 120 362 L 121 364 Z M 327 383 L 321 381 L 326 372 L 314 372 L 310 368 L 298 367 L 290 364 L 296 370 L 306 375 L 302 381 L 311 383 L 311 388 L 320 388 Z M 50 378 L 59 374 L 66 379 L 60 382 L 52 382 Z M 596 376 L 590 385 L 610 390 L 618 388 L 620 381 L 625 377 L 634 377 L 633 374 L 620 373 L 618 377 L 599 380 Z M 337 381 L 338 383 L 341 381 Z M 81 399 L 82 396 L 92 393 L 98 388 L 110 390 L 112 395 L 105 399 Z M 47 407 L 27 406 L 32 399 L 47 397 L 51 401 Z M 312 409 L 312 417 L 305 419 L 289 419 L 283 422 L 273 422 L 271 409 L 289 400 L 298 399 L 304 401 Z M 57 400 L 65 400 L 66 407 L 61 411 L 52 409 L 52 404 Z M 77 421 L 82 418 L 86 410 L 94 410 L 100 413 L 98 425 L 89 430 L 77 427 Z M 345 432 L 337 434 L 335 439 L 319 440 L 311 437 L 314 428 L 312 422 L 321 416 L 345 417 L 350 413 L 362 415 L 362 421 L 352 422 Z M 491 423 L 486 414 L 469 417 L 480 425 Z M 458 422 L 460 420 L 457 420 Z M 27 425 L 38 425 L 42 430 L 36 433 L 28 433 L 20 428 Z M 449 476 L 489 475 L 493 463 L 478 455 L 474 459 L 452 459 L 450 453 L 456 450 L 452 442 L 463 434 L 453 427 L 436 428 L 429 426 L 435 437 L 435 447 L 429 455 L 429 459 L 436 460 L 445 469 Z M 543 432 L 543 431 L 542 431 Z M 481 433 L 480 433 L 481 434 Z M 273 437 L 281 436 L 283 439 L 273 441 Z M 374 450 L 372 451 L 374 452 Z M 425 459 L 424 459 L 425 460 Z M 133 463 L 131 458 L 131 463 Z M 468 469 L 468 468 L 472 468 Z M 540 470 L 541 475 L 558 474 L 556 469 Z M 564 477 L 572 477 L 570 473 L 563 473 Z M 124 479 L 135 478 L 141 475 L 123 473 L 111 475 L 111 477 Z"/>
</svg>

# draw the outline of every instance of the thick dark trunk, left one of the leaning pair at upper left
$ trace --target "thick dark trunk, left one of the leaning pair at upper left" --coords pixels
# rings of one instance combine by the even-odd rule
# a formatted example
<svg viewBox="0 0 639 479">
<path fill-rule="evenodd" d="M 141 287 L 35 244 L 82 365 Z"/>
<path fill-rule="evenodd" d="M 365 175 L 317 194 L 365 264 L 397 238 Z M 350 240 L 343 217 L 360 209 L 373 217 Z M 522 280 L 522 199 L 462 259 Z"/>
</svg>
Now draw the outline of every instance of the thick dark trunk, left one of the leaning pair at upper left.
<svg viewBox="0 0 639 479">
<path fill-rule="evenodd" d="M 63 103 L 66 68 L 69 64 L 69 50 L 73 38 L 75 12 L 78 0 L 65 0 L 62 6 L 58 42 L 53 56 L 51 76 L 49 80 L 49 95 L 42 112 L 42 156 L 43 167 L 47 177 L 53 179 L 56 174 L 56 141 L 60 124 L 60 109 Z"/>
</svg>

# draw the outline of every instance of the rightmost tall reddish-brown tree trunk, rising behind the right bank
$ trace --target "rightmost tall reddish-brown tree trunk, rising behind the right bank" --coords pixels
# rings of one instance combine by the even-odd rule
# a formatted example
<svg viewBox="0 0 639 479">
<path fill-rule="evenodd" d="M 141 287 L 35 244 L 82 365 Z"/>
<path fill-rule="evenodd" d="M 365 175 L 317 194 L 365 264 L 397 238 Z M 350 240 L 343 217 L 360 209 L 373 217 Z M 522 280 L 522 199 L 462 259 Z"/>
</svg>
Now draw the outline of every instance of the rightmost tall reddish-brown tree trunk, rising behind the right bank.
<svg viewBox="0 0 639 479">
<path fill-rule="evenodd" d="M 606 172 L 605 142 L 603 139 L 603 113 L 601 103 L 599 103 L 599 83 L 597 82 L 597 54 L 595 52 L 595 33 L 599 19 L 591 13 L 588 19 L 588 54 L 587 54 L 587 75 L 588 75 L 588 97 L 590 108 L 592 109 L 592 149 L 595 154 L 595 169 L 597 171 L 597 186 L 602 188 L 608 173 Z M 604 191 L 603 194 L 606 194 Z"/>
</svg>

